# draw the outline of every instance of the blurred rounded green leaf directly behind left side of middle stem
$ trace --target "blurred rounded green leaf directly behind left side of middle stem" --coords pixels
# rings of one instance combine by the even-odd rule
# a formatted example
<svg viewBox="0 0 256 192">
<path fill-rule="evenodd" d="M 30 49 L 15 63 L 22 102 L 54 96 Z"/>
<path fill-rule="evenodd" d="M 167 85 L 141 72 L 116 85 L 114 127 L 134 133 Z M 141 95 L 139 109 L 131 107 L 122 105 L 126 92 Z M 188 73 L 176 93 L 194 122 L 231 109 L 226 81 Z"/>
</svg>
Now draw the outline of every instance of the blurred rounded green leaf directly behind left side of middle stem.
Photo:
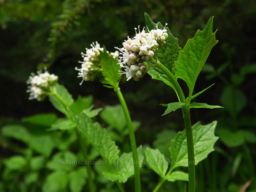
<svg viewBox="0 0 256 192">
<path fill-rule="evenodd" d="M 115 106 L 105 106 L 104 110 L 100 113 L 100 117 L 108 123 L 108 125 L 114 127 L 118 131 L 122 131 L 127 126 L 123 108 L 120 104 Z"/>
</svg>

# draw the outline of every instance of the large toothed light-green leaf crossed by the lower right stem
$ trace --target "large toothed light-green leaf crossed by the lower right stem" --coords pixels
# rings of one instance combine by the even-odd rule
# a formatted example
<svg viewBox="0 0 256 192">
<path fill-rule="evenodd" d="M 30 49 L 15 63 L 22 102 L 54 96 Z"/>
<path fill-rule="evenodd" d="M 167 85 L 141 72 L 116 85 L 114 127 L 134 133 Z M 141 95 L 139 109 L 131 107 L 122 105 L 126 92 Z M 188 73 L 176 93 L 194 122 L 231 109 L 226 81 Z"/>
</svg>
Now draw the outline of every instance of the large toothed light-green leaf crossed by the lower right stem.
<svg viewBox="0 0 256 192">
<path fill-rule="evenodd" d="M 207 125 L 201 125 L 201 122 L 197 122 L 192 126 L 193 139 L 194 139 L 194 150 L 195 150 L 195 165 L 200 161 L 207 158 L 207 155 L 214 151 L 214 143 L 218 140 L 218 137 L 214 135 L 214 130 L 217 125 L 217 121 L 212 121 Z M 172 161 L 175 164 L 172 166 L 187 167 L 188 164 L 193 162 L 188 162 L 187 158 L 187 138 L 186 131 L 178 132 L 175 139 L 172 139 L 172 145 L 169 148 L 171 153 Z"/>
</svg>

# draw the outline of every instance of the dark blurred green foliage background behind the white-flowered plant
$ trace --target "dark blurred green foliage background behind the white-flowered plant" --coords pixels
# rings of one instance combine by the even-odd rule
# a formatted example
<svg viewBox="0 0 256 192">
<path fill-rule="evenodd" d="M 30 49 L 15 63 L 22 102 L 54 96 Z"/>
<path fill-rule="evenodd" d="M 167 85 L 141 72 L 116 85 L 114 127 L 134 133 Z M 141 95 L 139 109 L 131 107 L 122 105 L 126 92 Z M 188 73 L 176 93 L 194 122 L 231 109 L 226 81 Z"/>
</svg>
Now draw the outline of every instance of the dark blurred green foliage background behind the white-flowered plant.
<svg viewBox="0 0 256 192">
<path fill-rule="evenodd" d="M 48 100 L 44 102 L 28 100 L 26 80 L 31 72 L 44 67 L 49 67 L 50 73 L 59 76 L 59 83 L 64 84 L 74 98 L 79 94 L 82 96 L 91 94 L 94 96 L 93 104 L 96 108 L 112 105 L 105 109 L 118 112 L 118 107 L 113 107 L 118 103 L 113 90 L 102 87 L 98 81 L 84 82 L 79 86 L 80 79 L 76 77 L 77 71 L 74 68 L 79 66 L 77 61 L 81 60 L 80 52 L 89 48 L 93 41 L 105 45 L 109 51 L 115 51 L 114 47 L 120 47 L 128 34 L 130 36 L 135 34 L 134 27 L 144 26 L 144 12 L 148 13 L 154 22 L 167 22 L 174 37 L 179 39 L 181 48 L 188 38 L 194 36 L 197 29 L 203 29 L 208 19 L 214 16 L 213 29 L 218 28 L 216 39 L 219 42 L 207 59 L 207 64 L 203 68 L 204 73 L 201 73 L 197 79 L 195 93 L 215 83 L 198 96 L 196 101 L 222 105 L 225 108 L 191 109 L 192 124 L 197 121 L 207 124 L 217 119 L 216 135 L 220 137 L 215 146 L 216 151 L 196 167 L 197 191 L 256 191 L 256 181 L 253 179 L 256 158 L 256 2 L 254 0 L 0 0 L 0 83 L 3 97 L 0 125 L 6 129 L 6 125 L 16 124 L 26 127 L 22 130 L 33 132 L 42 125 L 36 127 L 33 123 L 24 125 L 24 122 L 21 123 L 22 117 L 36 113 L 56 113 L 57 116 L 63 117 Z M 179 81 L 186 91 L 185 83 Z M 145 75 L 139 82 L 132 80 L 126 82 L 123 78 L 120 87 L 132 119 L 137 123 L 140 122 L 140 127 L 136 131 L 137 145 L 159 148 L 166 158 L 169 158 L 166 149 L 170 146 L 170 138 L 174 138 L 177 131 L 184 129 L 181 111 L 161 117 L 165 108 L 159 104 L 176 101 L 173 90 L 160 81 L 151 80 L 149 75 Z M 104 113 L 95 117 L 103 127 L 109 125 L 107 119 Z M 37 134 L 45 134 L 44 129 L 49 128 L 50 125 L 43 125 L 44 128 L 40 129 L 43 130 L 42 133 Z M 115 127 L 115 125 L 111 126 Z M 75 141 L 73 133 L 61 132 L 55 135 L 60 140 L 62 137 L 68 138 L 70 142 L 68 145 L 52 144 L 48 141 L 49 138 L 46 138 L 46 141 L 42 140 L 43 143 L 49 142 L 49 148 L 54 149 L 58 146 L 59 151 L 55 148 L 52 153 L 52 150 L 49 152 L 36 148 L 35 144 L 31 144 L 33 140 L 28 142 L 23 139 L 22 143 L 15 140 L 21 138 L 12 136 L 11 138 L 14 139 L 10 139 L 8 134 L 4 134 L 4 128 L 0 137 L 0 158 L 5 162 L 6 158 L 15 155 L 16 158 L 11 160 L 20 162 L 21 169 L 19 167 L 7 169 L 12 164 L 8 164 L 8 161 L 3 163 L 3 166 L 0 163 L 1 180 L 7 181 L 9 178 L 13 183 L 15 177 L 15 182 L 20 186 L 14 185 L 13 188 L 7 189 L 1 182 L 0 191 L 41 189 L 43 181 L 33 185 L 33 190 L 28 186 L 33 183 L 33 179 L 48 175 L 51 166 L 48 165 L 48 169 L 43 169 L 42 172 L 34 172 L 33 170 L 40 168 L 33 166 L 24 171 L 23 167 L 28 159 L 29 161 L 33 159 L 37 165 L 44 164 L 42 162 L 49 157 L 54 161 L 56 154 L 55 158 L 63 155 L 73 158 L 74 155 L 70 153 L 77 152 L 76 146 L 67 147 Z M 60 136 L 62 134 L 64 136 Z M 127 135 L 116 137 L 115 133 L 111 134 L 117 144 L 125 141 L 126 144 L 119 145 L 123 151 L 130 151 Z M 36 154 L 40 156 L 33 157 Z M 76 171 L 72 173 L 76 176 L 79 169 L 82 168 L 77 170 L 67 168 Z M 94 169 L 98 170 L 97 167 Z M 10 170 L 21 170 L 20 174 L 26 177 L 22 176 L 21 179 L 20 174 L 8 177 Z M 63 173 L 58 174 L 52 174 L 51 177 L 63 176 Z M 146 168 L 143 174 L 144 191 L 150 191 L 156 185 L 158 177 Z M 86 176 L 80 177 L 86 178 Z M 100 177 L 99 174 L 100 179 L 106 183 L 104 177 Z M 150 184 L 147 185 L 148 182 Z M 131 183 L 130 179 L 128 183 Z M 241 187 L 248 183 L 250 183 L 249 187 L 243 190 Z M 65 186 L 65 183 L 59 185 Z M 111 183 L 102 186 L 102 189 L 108 186 L 102 191 L 107 191 L 107 188 L 113 191 Z M 163 190 L 165 189 L 183 191 L 184 182 L 165 183 Z"/>
</svg>

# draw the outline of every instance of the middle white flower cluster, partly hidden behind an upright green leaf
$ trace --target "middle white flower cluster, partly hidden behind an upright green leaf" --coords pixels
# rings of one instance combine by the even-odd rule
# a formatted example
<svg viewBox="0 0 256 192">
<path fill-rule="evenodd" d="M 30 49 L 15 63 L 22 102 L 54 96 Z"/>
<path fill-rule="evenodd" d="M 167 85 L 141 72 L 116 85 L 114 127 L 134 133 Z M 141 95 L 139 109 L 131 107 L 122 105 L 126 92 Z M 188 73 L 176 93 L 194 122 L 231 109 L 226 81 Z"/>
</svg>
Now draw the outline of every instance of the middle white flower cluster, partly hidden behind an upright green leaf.
<svg viewBox="0 0 256 192">
<path fill-rule="evenodd" d="M 97 75 L 99 75 L 102 71 L 101 64 L 100 64 L 100 51 L 103 51 L 103 48 L 100 47 L 100 44 L 96 41 L 96 44 L 92 42 L 90 45 L 92 48 L 88 49 L 86 48 L 86 53 L 81 53 L 82 57 L 84 58 L 83 61 L 78 61 L 79 63 L 82 63 L 81 68 L 78 69 L 77 67 L 75 70 L 79 71 L 77 77 L 82 77 L 82 82 L 85 81 L 92 81 L 96 78 Z M 100 50 L 100 51 L 99 51 Z M 108 51 L 107 51 L 108 52 Z M 108 52 L 109 53 L 109 52 Z M 118 59 L 119 52 L 115 51 L 114 53 L 110 53 L 110 55 L 114 59 Z"/>
</svg>

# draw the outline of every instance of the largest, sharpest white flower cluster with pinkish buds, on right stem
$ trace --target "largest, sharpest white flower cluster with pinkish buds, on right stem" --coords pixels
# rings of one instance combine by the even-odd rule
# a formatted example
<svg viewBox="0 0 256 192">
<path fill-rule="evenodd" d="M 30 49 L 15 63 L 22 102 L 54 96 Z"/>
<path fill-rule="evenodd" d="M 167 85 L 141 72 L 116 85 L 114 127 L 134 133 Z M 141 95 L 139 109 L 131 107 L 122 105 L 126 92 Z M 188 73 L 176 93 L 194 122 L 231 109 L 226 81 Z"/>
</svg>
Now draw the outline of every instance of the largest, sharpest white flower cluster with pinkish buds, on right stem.
<svg viewBox="0 0 256 192">
<path fill-rule="evenodd" d="M 137 28 L 134 28 L 135 37 L 129 38 L 128 36 L 128 40 L 123 42 L 123 48 L 116 47 L 122 55 L 119 57 L 122 60 L 120 64 L 125 67 L 125 71 L 120 72 L 126 74 L 127 81 L 131 78 L 139 80 L 146 74 L 148 66 L 143 65 L 143 62 L 152 60 L 159 47 L 166 43 L 165 40 L 168 37 L 166 25 L 167 23 L 164 29 L 158 29 L 156 25 L 156 29 L 148 30 L 148 33 L 145 33 L 144 28 L 142 32 L 139 29 L 139 33 L 137 33 Z"/>
</svg>

